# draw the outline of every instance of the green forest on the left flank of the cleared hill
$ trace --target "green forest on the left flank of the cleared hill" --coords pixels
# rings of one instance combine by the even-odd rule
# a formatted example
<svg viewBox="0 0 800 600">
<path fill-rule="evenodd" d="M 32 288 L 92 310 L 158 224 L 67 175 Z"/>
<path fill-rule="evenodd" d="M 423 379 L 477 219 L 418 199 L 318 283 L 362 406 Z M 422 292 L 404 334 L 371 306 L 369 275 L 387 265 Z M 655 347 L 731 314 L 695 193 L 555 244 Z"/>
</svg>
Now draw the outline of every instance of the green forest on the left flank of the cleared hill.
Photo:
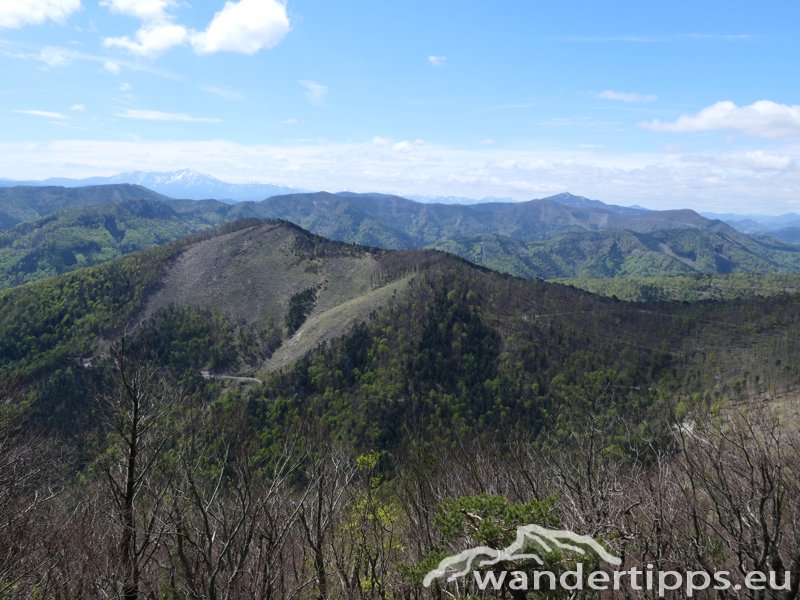
<svg viewBox="0 0 800 600">
<path fill-rule="evenodd" d="M 160 284 L 169 262 L 196 239 L 186 238 L 0 292 L 0 377 L 17 375 L 29 385 L 34 420 L 71 435 L 96 424 L 88 402 L 89 391 L 101 387 L 106 376 L 97 360 L 98 340 L 117 337 L 135 320 Z M 189 319 L 188 323 L 191 326 L 186 319 L 178 319 L 165 333 L 166 337 L 179 339 L 183 333 L 182 342 L 192 346 L 191 351 L 184 349 L 182 353 L 177 352 L 177 345 L 170 347 L 170 352 L 177 352 L 179 365 L 181 356 L 191 363 L 196 359 L 190 355 L 200 350 L 192 340 L 193 333 L 199 330 L 188 333 L 197 319 Z M 212 320 L 211 328 L 218 336 L 215 339 L 224 339 L 225 327 Z M 269 340 L 264 345 L 274 350 L 269 332 L 243 334 L 242 339 L 256 336 Z M 263 349 L 264 345 L 251 347 Z M 210 357 L 223 360 L 223 347 L 224 344 L 212 345 Z"/>
</svg>

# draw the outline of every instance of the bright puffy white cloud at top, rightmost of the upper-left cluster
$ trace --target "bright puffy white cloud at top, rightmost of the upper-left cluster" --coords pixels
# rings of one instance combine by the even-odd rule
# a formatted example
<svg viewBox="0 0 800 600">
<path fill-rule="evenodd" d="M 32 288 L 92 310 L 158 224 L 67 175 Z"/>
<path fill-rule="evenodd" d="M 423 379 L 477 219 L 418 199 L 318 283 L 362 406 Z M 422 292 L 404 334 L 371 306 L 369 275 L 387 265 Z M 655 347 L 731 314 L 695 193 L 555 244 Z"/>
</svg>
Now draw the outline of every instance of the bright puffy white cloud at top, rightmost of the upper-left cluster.
<svg viewBox="0 0 800 600">
<path fill-rule="evenodd" d="M 198 54 L 241 52 L 255 54 L 279 44 L 291 25 L 286 6 L 278 0 L 226 2 L 205 31 L 192 34 Z"/>
</svg>

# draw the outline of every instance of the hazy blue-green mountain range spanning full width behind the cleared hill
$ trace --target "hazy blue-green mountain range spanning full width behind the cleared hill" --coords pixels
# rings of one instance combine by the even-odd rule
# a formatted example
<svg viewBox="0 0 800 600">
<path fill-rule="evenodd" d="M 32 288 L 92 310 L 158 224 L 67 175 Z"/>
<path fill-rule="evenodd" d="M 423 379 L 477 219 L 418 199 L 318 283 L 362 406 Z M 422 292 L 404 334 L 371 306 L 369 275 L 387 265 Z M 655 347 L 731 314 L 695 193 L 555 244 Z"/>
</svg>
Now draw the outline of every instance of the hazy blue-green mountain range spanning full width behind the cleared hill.
<svg viewBox="0 0 800 600">
<path fill-rule="evenodd" d="M 116 184 L 0 187 L 0 286 L 246 218 L 283 219 L 331 239 L 385 249 L 438 248 L 527 278 L 800 272 L 793 244 L 749 236 L 691 210 L 620 207 L 570 194 L 446 205 L 317 192 L 227 204 Z"/>
</svg>

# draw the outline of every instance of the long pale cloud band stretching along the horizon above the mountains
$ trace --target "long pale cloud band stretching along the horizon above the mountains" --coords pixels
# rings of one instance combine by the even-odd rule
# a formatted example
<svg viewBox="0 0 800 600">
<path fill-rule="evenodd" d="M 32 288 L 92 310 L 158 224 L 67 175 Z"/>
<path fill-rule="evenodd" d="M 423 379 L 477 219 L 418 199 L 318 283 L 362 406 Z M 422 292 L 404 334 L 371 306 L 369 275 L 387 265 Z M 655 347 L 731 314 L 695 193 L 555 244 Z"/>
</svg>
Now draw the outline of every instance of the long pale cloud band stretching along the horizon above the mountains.
<svg viewBox="0 0 800 600">
<path fill-rule="evenodd" d="M 0 141 L 0 164 L 17 179 L 169 171 L 188 165 L 227 181 L 275 182 L 306 189 L 517 200 L 566 190 L 650 208 L 690 206 L 714 212 L 775 214 L 800 209 L 800 145 L 683 157 L 577 148 L 534 151 L 500 144 L 426 143 L 415 145 L 412 152 L 401 152 L 393 147 L 395 143 L 388 138 L 292 146 L 221 140 L 69 140 L 40 142 L 29 148 L 27 142 Z"/>
</svg>

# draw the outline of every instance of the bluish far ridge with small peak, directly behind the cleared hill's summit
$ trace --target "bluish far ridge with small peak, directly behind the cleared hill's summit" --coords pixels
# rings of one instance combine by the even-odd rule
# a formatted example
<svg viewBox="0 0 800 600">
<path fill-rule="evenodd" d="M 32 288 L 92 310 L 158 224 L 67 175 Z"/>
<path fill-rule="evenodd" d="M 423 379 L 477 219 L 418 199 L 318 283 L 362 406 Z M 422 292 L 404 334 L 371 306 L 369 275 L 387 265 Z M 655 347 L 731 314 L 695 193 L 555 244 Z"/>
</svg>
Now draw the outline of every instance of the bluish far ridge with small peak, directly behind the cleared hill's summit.
<svg viewBox="0 0 800 600">
<path fill-rule="evenodd" d="M 384 248 L 424 247 L 487 233 L 529 241 L 609 229 L 708 229 L 715 223 L 693 210 L 630 209 L 571 194 L 465 206 L 421 204 L 386 194 L 316 192 L 273 196 L 258 212 L 319 235 Z"/>
</svg>

